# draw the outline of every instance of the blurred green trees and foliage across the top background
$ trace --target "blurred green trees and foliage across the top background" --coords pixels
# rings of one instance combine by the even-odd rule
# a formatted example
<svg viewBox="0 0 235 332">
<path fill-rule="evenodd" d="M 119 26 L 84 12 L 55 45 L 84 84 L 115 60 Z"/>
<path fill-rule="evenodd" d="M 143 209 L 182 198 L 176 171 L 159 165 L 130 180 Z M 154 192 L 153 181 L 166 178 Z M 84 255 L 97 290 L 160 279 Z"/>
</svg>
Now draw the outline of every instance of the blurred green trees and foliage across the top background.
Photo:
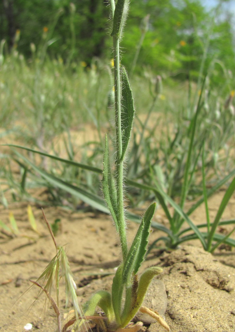
<svg viewBox="0 0 235 332">
<path fill-rule="evenodd" d="M 209 11 L 199 0 L 139 0 L 132 1 L 121 42 L 128 70 L 148 14 L 136 72 L 144 66 L 163 77 L 195 80 L 215 69 L 213 81 L 218 82 L 224 68 L 235 69 L 232 18 L 222 1 Z M 0 36 L 29 58 L 30 43 L 37 48 L 48 34 L 50 56 L 90 65 L 93 57 L 109 56 L 108 15 L 103 0 L 5 0 L 0 3 Z"/>
</svg>

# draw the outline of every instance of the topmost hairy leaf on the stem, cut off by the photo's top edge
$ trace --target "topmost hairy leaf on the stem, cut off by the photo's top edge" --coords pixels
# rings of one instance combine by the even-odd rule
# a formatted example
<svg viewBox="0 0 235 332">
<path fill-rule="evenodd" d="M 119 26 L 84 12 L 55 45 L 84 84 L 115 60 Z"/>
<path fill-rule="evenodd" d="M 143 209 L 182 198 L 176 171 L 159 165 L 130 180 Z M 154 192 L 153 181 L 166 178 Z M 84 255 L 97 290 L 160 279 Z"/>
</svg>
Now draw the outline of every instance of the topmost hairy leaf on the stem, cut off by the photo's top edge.
<svg viewBox="0 0 235 332">
<path fill-rule="evenodd" d="M 118 0 L 114 15 L 113 15 L 113 31 L 111 33 L 112 37 L 117 39 L 121 37 L 123 27 L 128 13 L 128 0 Z"/>
</svg>

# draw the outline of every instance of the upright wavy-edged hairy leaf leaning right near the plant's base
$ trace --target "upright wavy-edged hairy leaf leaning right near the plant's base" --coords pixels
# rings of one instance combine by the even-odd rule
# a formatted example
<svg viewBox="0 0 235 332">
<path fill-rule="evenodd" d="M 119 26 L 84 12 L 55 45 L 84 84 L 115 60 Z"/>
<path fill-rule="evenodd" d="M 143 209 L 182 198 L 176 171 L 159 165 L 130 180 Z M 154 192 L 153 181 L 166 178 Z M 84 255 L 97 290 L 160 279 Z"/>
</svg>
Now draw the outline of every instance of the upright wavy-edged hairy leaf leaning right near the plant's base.
<svg viewBox="0 0 235 332">
<path fill-rule="evenodd" d="M 131 275 L 138 272 L 141 263 L 144 261 L 146 247 L 148 244 L 149 227 L 155 211 L 156 203 L 152 203 L 141 221 L 132 246 L 124 262 L 122 280 L 127 286 L 131 286 Z"/>
</svg>

